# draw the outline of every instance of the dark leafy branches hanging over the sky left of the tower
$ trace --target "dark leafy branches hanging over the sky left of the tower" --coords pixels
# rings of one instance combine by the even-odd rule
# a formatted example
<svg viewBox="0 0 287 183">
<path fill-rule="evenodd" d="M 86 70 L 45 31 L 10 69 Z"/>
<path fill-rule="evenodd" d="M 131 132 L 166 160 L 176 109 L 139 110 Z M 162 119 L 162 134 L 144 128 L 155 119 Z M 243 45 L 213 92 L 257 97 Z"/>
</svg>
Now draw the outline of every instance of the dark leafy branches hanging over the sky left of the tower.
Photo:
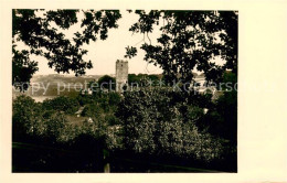
<svg viewBox="0 0 287 183">
<path fill-rule="evenodd" d="M 85 69 L 92 68 L 92 62 L 83 56 L 87 50 L 83 44 L 89 41 L 107 39 L 108 29 L 118 28 L 120 19 L 116 10 L 85 10 L 81 20 L 82 32 L 76 32 L 73 39 L 67 39 L 62 30 L 68 30 L 78 23 L 78 10 L 20 10 L 14 9 L 12 14 L 13 35 L 13 78 L 12 83 L 30 83 L 32 75 L 38 71 L 38 62 L 30 61 L 31 55 L 45 57 L 49 66 L 57 73 L 75 75 L 85 74 Z M 51 24 L 55 24 L 54 26 Z M 21 50 L 19 43 L 24 43 L 29 49 Z M 17 69 L 15 69 L 17 68 Z M 29 71 L 26 72 L 26 69 Z M 23 76 L 24 75 L 24 76 Z M 19 85 L 21 90 L 26 89 Z"/>
</svg>

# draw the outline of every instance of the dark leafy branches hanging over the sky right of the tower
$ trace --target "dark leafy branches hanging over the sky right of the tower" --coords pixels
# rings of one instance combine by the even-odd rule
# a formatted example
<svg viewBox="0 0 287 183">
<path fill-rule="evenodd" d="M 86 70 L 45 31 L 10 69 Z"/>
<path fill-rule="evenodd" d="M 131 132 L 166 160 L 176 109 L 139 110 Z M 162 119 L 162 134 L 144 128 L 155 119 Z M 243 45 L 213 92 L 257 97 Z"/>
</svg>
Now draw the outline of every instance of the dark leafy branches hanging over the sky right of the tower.
<svg viewBox="0 0 287 183">
<path fill-rule="evenodd" d="M 167 79 L 189 82 L 192 69 L 205 73 L 208 80 L 221 82 L 226 68 L 237 73 L 237 12 L 236 11 L 135 11 L 138 21 L 129 31 L 148 36 L 156 26 L 161 35 L 157 44 L 149 40 L 140 49 L 148 63 L 159 65 Z M 136 52 L 136 51 L 134 51 Z M 127 50 L 126 57 L 132 57 Z M 219 66 L 210 60 L 220 56 L 226 63 Z"/>
</svg>

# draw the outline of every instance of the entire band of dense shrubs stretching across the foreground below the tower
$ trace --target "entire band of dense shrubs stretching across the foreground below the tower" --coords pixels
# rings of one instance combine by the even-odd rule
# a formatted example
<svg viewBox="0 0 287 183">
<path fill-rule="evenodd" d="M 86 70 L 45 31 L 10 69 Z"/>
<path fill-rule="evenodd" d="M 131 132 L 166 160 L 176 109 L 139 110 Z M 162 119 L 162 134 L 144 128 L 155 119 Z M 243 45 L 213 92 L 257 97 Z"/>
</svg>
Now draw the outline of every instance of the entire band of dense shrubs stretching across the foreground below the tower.
<svg viewBox="0 0 287 183">
<path fill-rule="evenodd" d="M 40 104 L 26 96 L 18 97 L 13 101 L 13 141 L 28 139 L 99 154 L 103 149 L 115 153 L 124 150 L 201 162 L 223 160 L 227 153 L 236 155 L 233 93 L 214 103 L 210 96 L 169 87 L 126 92 L 124 97 L 97 93 L 87 96 L 82 115 L 89 119 L 79 125 L 67 121 L 71 110 L 60 107 L 60 101 L 66 99 Z M 208 114 L 204 108 L 209 108 Z"/>
</svg>

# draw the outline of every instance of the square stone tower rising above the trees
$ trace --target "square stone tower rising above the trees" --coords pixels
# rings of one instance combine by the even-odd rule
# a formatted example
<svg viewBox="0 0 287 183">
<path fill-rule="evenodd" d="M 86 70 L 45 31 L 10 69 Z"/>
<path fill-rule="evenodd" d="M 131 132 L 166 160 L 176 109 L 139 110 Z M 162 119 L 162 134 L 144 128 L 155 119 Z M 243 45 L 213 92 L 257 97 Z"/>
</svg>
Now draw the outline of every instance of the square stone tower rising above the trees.
<svg viewBox="0 0 287 183">
<path fill-rule="evenodd" d="M 128 83 L 128 62 L 117 60 L 116 62 L 116 92 L 123 93 Z"/>
</svg>

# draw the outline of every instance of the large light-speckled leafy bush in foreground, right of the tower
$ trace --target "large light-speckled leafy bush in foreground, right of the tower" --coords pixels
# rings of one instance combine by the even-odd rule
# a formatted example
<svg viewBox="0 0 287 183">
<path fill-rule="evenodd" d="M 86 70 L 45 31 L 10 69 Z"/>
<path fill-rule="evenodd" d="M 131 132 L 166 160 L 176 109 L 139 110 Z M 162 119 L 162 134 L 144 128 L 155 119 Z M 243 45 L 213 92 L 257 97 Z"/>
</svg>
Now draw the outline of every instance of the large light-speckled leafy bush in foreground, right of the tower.
<svg viewBox="0 0 287 183">
<path fill-rule="evenodd" d="M 124 147 L 139 153 L 221 159 L 223 139 L 195 126 L 204 116 L 200 98 L 204 96 L 169 88 L 126 93 L 116 114 L 123 125 Z"/>
</svg>

